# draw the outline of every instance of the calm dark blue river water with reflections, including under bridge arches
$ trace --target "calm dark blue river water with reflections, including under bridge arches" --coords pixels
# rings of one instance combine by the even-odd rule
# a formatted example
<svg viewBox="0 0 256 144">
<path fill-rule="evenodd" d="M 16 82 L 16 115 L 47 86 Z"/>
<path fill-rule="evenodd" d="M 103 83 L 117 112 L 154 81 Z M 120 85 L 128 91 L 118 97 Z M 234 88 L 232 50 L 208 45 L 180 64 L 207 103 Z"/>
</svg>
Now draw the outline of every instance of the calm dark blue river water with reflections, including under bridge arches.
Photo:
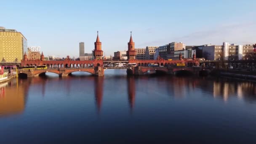
<svg viewBox="0 0 256 144">
<path fill-rule="evenodd" d="M 256 85 L 110 69 L 1 83 L 0 144 L 53 142 L 255 144 Z"/>
</svg>

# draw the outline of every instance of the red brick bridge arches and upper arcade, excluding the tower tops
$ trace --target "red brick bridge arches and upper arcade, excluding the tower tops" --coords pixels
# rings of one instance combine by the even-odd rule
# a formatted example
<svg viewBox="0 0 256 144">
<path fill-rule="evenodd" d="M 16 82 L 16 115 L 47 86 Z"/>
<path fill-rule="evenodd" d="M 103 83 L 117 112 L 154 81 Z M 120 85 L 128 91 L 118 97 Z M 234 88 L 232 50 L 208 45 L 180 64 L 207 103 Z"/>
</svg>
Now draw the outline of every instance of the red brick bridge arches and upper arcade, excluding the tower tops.
<svg viewBox="0 0 256 144">
<path fill-rule="evenodd" d="M 59 76 L 67 76 L 72 72 L 88 72 L 96 76 L 103 76 L 106 69 L 127 69 L 129 75 L 144 75 L 149 72 L 161 72 L 170 75 L 175 75 L 178 71 L 187 71 L 192 74 L 198 74 L 202 70 L 199 62 L 196 60 L 129 60 L 128 63 L 136 63 L 136 67 L 104 67 L 103 60 L 92 61 L 71 61 L 65 59 L 63 61 L 40 61 L 30 60 L 21 61 L 21 66 L 30 65 L 46 65 L 48 69 L 19 69 L 19 75 L 27 75 L 27 77 L 36 77 L 44 75 L 45 72 L 52 72 Z M 149 67 L 150 64 L 157 64 L 157 67 Z M 177 64 L 185 64 L 184 67 L 178 67 Z"/>
</svg>

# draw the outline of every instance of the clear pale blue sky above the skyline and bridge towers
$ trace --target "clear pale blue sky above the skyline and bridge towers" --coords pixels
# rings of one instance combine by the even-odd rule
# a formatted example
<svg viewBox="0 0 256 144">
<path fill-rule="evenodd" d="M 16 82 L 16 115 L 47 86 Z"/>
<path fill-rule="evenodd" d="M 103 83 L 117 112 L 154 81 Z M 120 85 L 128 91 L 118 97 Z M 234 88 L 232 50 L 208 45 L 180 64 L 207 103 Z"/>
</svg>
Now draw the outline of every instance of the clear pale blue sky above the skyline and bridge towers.
<svg viewBox="0 0 256 144">
<path fill-rule="evenodd" d="M 256 0 L 4 0 L 0 26 L 21 32 L 45 56 L 104 55 L 171 42 L 186 45 L 256 43 Z"/>
</svg>

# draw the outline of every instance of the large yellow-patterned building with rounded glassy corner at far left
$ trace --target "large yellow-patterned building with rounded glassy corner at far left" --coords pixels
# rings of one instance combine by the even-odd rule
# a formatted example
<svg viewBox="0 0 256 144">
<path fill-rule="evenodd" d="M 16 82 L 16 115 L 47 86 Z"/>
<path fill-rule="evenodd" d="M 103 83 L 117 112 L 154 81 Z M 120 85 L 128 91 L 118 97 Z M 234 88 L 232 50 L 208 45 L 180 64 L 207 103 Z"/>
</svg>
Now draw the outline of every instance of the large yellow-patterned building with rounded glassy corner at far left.
<svg viewBox="0 0 256 144">
<path fill-rule="evenodd" d="M 0 27 L 0 60 L 20 62 L 27 52 L 27 39 L 15 29 Z"/>
</svg>

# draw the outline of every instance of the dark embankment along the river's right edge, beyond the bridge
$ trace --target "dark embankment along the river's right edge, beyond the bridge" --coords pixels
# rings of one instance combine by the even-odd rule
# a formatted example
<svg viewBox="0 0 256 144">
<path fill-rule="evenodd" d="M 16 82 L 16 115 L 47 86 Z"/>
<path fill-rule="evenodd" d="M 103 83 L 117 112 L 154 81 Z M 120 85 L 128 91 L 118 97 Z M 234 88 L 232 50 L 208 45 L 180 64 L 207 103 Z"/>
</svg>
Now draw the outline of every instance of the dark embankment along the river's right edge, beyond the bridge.
<svg viewBox="0 0 256 144">
<path fill-rule="evenodd" d="M 215 69 L 210 74 L 218 77 L 230 77 L 256 81 L 256 72 L 253 71 Z"/>
</svg>

